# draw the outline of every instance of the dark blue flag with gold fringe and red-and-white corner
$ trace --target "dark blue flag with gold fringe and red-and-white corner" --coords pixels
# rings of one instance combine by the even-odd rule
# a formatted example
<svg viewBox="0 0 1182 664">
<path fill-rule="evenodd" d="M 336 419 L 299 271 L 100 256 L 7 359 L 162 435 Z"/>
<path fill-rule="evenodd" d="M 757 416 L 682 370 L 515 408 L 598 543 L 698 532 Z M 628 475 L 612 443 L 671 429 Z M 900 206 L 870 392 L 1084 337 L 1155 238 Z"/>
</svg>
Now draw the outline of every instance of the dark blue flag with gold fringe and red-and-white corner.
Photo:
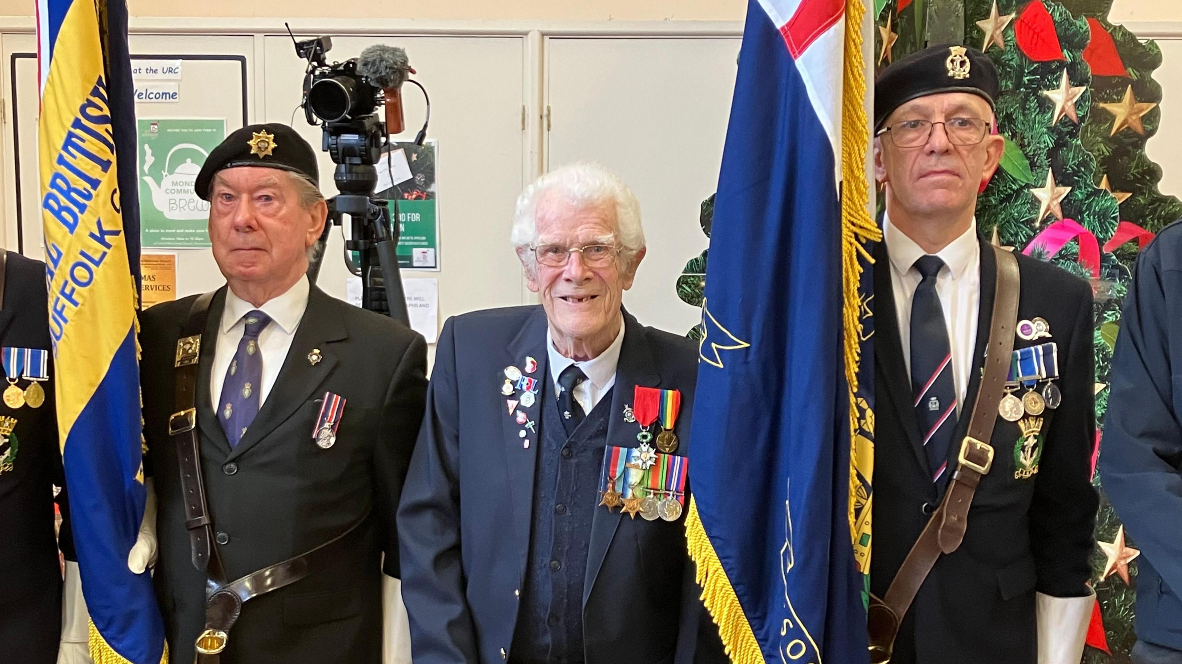
<svg viewBox="0 0 1182 664">
<path fill-rule="evenodd" d="M 860 0 L 753 0 L 715 198 L 687 519 L 738 664 L 868 662 Z"/>
</svg>

